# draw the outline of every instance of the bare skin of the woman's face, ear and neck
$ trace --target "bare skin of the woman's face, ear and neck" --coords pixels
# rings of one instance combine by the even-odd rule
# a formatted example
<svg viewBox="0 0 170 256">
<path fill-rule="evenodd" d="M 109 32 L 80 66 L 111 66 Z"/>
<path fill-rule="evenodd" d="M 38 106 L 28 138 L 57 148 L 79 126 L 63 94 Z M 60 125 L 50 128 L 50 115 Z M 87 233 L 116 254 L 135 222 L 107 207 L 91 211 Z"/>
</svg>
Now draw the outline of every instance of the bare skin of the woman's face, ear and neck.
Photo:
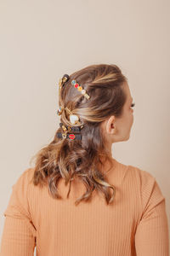
<svg viewBox="0 0 170 256">
<path fill-rule="evenodd" d="M 127 141 L 130 137 L 131 127 L 133 125 L 133 108 L 131 104 L 133 103 L 133 97 L 129 90 L 127 83 L 123 84 L 124 90 L 127 95 L 126 102 L 123 106 L 123 112 L 121 118 L 116 118 L 112 115 L 110 118 L 105 119 L 102 123 L 102 130 L 105 132 L 105 139 L 108 154 L 111 154 L 112 143 L 118 143 Z"/>
</svg>

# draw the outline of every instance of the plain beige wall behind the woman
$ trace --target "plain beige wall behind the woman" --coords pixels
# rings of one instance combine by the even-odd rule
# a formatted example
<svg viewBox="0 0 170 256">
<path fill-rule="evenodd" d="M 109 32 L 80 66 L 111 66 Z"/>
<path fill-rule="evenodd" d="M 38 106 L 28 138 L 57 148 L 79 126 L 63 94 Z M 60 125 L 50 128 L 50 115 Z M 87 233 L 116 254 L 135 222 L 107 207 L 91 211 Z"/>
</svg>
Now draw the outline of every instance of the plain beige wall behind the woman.
<svg viewBox="0 0 170 256">
<path fill-rule="evenodd" d="M 0 1 L 1 234 L 12 185 L 59 127 L 58 80 L 95 63 L 127 76 L 134 121 L 113 156 L 156 177 L 170 221 L 170 2 Z"/>
</svg>

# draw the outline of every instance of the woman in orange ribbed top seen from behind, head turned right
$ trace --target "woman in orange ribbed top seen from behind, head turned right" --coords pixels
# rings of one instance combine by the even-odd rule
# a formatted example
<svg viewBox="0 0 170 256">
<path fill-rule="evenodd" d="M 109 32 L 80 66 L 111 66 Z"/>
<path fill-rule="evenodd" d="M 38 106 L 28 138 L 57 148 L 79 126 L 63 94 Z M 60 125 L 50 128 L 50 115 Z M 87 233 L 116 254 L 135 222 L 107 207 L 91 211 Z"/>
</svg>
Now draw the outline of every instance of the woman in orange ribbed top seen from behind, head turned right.
<svg viewBox="0 0 170 256">
<path fill-rule="evenodd" d="M 1 256 L 168 256 L 156 178 L 112 157 L 127 141 L 133 98 L 116 65 L 59 79 L 59 129 L 13 186 Z"/>
</svg>

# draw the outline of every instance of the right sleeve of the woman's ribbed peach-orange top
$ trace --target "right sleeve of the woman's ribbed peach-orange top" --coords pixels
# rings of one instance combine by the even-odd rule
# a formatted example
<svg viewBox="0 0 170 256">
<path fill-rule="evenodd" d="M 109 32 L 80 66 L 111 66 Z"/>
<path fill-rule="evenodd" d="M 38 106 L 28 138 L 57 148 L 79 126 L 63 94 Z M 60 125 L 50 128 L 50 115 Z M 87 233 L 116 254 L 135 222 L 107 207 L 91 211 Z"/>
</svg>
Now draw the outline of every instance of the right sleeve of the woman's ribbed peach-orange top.
<svg viewBox="0 0 170 256">
<path fill-rule="evenodd" d="M 135 234 L 137 256 L 169 256 L 166 200 L 149 172 L 141 172 L 143 212 Z"/>
</svg>

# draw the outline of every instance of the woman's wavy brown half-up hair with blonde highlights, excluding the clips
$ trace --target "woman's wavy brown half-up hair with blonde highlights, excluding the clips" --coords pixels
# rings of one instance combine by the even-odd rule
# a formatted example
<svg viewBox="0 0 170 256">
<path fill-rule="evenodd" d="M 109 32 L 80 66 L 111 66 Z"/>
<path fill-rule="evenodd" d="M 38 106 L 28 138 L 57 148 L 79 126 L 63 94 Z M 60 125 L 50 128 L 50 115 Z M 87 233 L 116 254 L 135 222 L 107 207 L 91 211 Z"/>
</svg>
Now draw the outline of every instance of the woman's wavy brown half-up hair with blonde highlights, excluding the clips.
<svg viewBox="0 0 170 256">
<path fill-rule="evenodd" d="M 87 91 L 90 99 L 71 84 L 73 79 Z M 122 107 L 126 102 L 123 91 L 125 82 L 127 78 L 116 65 L 90 65 L 70 75 L 61 89 L 59 104 L 62 102 L 64 108 L 69 108 L 80 117 L 84 126 L 82 140 L 57 137 L 56 133 L 62 132 L 59 127 L 53 141 L 33 156 L 36 161 L 31 182 L 34 185 L 48 185 L 50 195 L 54 199 L 62 199 L 57 183 L 60 178 L 64 178 L 65 184 L 70 183 L 68 198 L 71 181 L 78 177 L 85 185 L 86 192 L 75 201 L 76 206 L 80 201 L 88 201 L 95 189 L 105 195 L 107 205 L 113 201 L 116 189 L 108 183 L 105 172 L 100 171 L 105 160 L 111 163 L 112 159 L 105 147 L 101 124 L 111 115 L 122 116 Z M 60 122 L 71 125 L 69 113 L 65 110 L 60 115 Z M 113 190 L 112 195 L 109 189 Z"/>
</svg>

